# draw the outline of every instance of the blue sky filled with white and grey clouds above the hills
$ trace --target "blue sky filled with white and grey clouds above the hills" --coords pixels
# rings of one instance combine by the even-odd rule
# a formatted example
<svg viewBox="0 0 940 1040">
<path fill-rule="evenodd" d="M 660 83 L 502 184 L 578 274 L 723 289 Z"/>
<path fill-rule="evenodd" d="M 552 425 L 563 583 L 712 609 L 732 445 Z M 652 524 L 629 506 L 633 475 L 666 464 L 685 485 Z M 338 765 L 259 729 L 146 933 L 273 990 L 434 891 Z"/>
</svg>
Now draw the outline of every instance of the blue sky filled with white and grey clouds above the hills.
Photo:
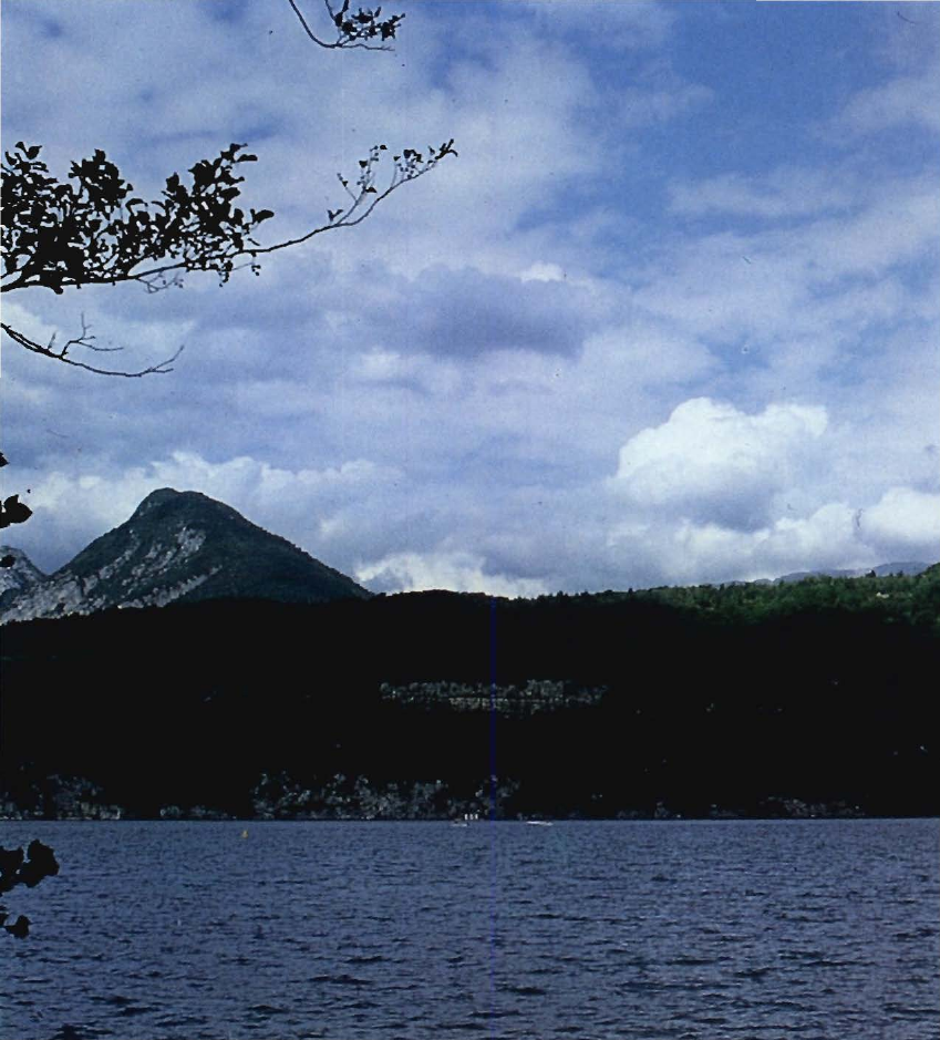
<svg viewBox="0 0 940 1040">
<path fill-rule="evenodd" d="M 259 277 L 7 294 L 91 363 L 185 346 L 4 339 L 9 542 L 53 570 L 171 486 L 374 591 L 940 558 L 939 3 L 385 7 L 393 53 L 287 0 L 4 0 L 3 143 L 62 178 L 246 142 L 272 243 L 373 144 L 459 153 Z"/>
</svg>

